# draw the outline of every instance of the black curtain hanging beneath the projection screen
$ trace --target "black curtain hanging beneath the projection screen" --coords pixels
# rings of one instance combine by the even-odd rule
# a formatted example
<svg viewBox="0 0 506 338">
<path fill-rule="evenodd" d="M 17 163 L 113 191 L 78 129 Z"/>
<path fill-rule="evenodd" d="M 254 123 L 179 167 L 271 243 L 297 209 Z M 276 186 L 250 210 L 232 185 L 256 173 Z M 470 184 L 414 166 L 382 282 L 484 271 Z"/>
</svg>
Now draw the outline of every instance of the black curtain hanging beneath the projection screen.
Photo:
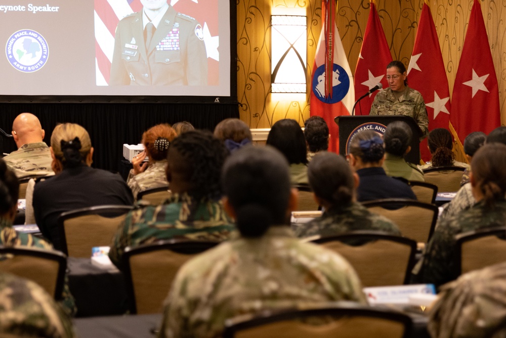
<svg viewBox="0 0 506 338">
<path fill-rule="evenodd" d="M 83 126 L 95 148 L 93 167 L 110 171 L 119 170 L 123 143 L 140 143 L 142 133 L 156 124 L 188 121 L 197 129 L 212 131 L 224 119 L 239 118 L 238 106 L 233 103 L 3 103 L 2 110 L 0 128 L 8 134 L 22 112 L 37 116 L 48 145 L 58 123 Z M 16 150 L 12 138 L 2 138 L 2 152 Z"/>
</svg>

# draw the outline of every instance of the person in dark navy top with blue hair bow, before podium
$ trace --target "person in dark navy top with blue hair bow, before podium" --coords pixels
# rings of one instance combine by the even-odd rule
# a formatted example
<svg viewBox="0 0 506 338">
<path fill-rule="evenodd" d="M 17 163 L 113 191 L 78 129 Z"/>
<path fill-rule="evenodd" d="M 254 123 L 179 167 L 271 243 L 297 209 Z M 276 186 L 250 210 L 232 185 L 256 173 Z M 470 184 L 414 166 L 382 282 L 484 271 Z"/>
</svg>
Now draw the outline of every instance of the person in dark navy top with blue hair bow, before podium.
<svg viewBox="0 0 506 338">
<path fill-rule="evenodd" d="M 407 183 L 387 176 L 382 167 L 384 154 L 383 140 L 372 130 L 360 131 L 353 137 L 350 143 L 349 162 L 360 178 L 357 200 L 359 202 L 384 198 L 416 200 Z"/>
</svg>

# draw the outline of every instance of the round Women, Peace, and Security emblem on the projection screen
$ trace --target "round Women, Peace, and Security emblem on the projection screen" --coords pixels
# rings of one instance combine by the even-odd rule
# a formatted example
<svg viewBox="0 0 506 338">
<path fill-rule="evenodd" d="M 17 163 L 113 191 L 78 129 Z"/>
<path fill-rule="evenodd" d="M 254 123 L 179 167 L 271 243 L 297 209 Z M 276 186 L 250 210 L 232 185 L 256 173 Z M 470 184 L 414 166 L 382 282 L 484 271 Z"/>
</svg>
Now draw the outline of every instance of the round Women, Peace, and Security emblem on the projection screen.
<svg viewBox="0 0 506 338">
<path fill-rule="evenodd" d="M 7 40 L 5 50 L 9 63 L 25 73 L 44 67 L 49 56 L 46 39 L 30 29 L 21 29 L 12 34 Z"/>
</svg>

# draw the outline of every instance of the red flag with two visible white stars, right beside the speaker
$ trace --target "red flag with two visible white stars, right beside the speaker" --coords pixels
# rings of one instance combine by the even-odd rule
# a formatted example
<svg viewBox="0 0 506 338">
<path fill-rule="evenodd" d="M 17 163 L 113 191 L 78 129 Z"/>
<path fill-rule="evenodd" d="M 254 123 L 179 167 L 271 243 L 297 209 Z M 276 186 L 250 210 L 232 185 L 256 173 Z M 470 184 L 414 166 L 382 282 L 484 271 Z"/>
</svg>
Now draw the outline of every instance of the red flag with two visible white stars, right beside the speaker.
<svg viewBox="0 0 506 338">
<path fill-rule="evenodd" d="M 421 9 L 413 52 L 408 66 L 408 85 L 424 97 L 429 117 L 429 131 L 435 128 L 449 128 L 450 90 L 439 46 L 436 26 L 429 6 Z M 420 156 L 429 161 L 431 153 L 427 138 L 420 143 Z"/>
</svg>

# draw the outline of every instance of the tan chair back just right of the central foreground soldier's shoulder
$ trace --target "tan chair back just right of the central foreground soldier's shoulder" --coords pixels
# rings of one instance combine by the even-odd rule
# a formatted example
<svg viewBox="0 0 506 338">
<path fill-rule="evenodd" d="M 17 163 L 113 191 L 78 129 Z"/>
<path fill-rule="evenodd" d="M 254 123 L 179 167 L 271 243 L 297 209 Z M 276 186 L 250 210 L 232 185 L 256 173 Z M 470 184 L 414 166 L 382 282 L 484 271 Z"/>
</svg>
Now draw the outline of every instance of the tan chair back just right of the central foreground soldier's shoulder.
<svg viewBox="0 0 506 338">
<path fill-rule="evenodd" d="M 382 232 L 357 231 L 319 238 L 313 242 L 348 260 L 364 287 L 409 282 L 416 252 L 416 242 L 409 238 Z M 356 245 L 358 243 L 363 244 Z"/>
</svg>

